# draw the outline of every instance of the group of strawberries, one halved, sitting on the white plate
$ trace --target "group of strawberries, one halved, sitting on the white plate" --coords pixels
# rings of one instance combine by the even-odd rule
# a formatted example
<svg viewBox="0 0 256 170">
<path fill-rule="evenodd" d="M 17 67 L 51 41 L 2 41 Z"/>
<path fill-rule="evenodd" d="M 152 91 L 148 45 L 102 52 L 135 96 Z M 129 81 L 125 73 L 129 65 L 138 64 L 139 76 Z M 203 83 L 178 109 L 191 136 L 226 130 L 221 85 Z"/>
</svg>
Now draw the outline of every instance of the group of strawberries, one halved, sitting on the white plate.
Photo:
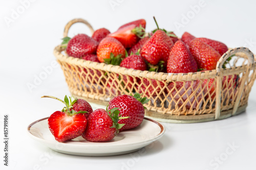
<svg viewBox="0 0 256 170">
<path fill-rule="evenodd" d="M 56 111 L 48 118 L 48 126 L 55 139 L 59 142 L 82 136 L 92 142 L 109 141 L 119 130 L 136 128 L 142 123 L 145 110 L 143 104 L 149 100 L 141 98 L 140 94 L 119 95 L 113 98 L 106 110 L 96 109 L 83 99 L 68 98 L 64 101 L 53 98 L 66 105 L 61 111 Z"/>
</svg>

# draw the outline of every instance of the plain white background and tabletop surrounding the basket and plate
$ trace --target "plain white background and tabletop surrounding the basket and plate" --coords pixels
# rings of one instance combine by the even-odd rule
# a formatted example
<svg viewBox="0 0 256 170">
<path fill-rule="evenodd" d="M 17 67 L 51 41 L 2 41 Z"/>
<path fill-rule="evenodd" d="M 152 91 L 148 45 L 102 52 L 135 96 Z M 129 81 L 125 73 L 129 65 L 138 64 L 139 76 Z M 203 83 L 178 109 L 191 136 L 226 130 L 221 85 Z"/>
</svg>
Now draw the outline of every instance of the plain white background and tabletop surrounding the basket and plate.
<svg viewBox="0 0 256 170">
<path fill-rule="evenodd" d="M 118 2 L 119 6 L 113 10 L 110 2 Z M 1 1 L 0 155 L 4 154 L 3 115 L 10 116 L 10 166 L 4 166 L 2 158 L 1 169 L 255 169 L 255 85 L 245 113 L 215 122 L 163 124 L 164 136 L 143 152 L 134 154 L 97 158 L 70 156 L 56 153 L 27 135 L 31 122 L 63 107 L 60 102 L 40 99 L 40 96 L 62 99 L 70 94 L 60 67 L 51 66 L 51 62 L 55 61 L 53 48 L 61 42 L 63 28 L 73 18 L 87 19 L 94 29 L 106 27 L 111 32 L 127 21 L 145 18 L 146 30 L 150 31 L 155 28 L 152 18 L 155 15 L 161 28 L 173 30 L 178 36 L 188 31 L 197 37 L 223 41 L 229 47 L 246 46 L 256 53 L 255 1 L 205 0 L 206 5 L 187 23 L 183 19 L 183 28 L 176 29 L 174 23 L 182 23 L 183 15 L 191 13 L 190 6 L 199 2 L 38 0 L 7 27 L 4 18 L 11 17 L 12 9 L 17 10 L 21 3 Z M 90 34 L 90 31 L 77 24 L 69 35 L 77 33 Z M 46 67 L 49 70 L 44 75 Z M 35 77 L 39 75 L 45 79 L 38 81 Z M 35 88 L 30 91 L 27 83 L 36 83 Z M 239 146 L 233 148 L 233 152 L 229 146 L 232 143 Z M 219 163 L 215 161 L 218 157 L 222 157 Z"/>
</svg>

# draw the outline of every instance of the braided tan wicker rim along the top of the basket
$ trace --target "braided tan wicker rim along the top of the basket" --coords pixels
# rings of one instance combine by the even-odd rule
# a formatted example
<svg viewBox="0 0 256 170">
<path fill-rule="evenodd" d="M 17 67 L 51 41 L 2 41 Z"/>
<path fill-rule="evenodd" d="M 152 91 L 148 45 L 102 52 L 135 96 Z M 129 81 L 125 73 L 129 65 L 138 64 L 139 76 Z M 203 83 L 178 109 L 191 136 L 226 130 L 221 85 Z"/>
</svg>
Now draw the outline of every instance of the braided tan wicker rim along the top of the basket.
<svg viewBox="0 0 256 170">
<path fill-rule="evenodd" d="M 232 50 L 233 49 L 231 49 L 230 51 Z M 61 47 L 61 45 L 57 45 L 54 48 L 54 56 L 56 57 L 57 60 L 65 61 L 70 64 L 74 64 L 81 67 L 94 68 L 101 71 L 110 71 L 116 74 L 122 74 L 122 75 L 128 75 L 128 76 L 150 78 L 150 79 L 155 79 L 159 81 L 193 81 L 193 80 L 199 80 L 199 79 L 216 78 L 218 75 L 217 69 L 188 72 L 188 73 L 165 73 L 165 72 L 155 72 L 155 71 L 148 71 L 148 70 L 142 71 L 142 70 L 136 70 L 133 68 L 121 67 L 119 65 L 98 63 L 98 62 L 66 56 L 61 53 L 63 51 L 65 51 L 65 48 Z M 245 58 L 244 54 L 238 53 L 238 56 L 242 56 Z M 249 67 L 250 70 L 255 69 L 255 65 L 256 65 L 255 63 L 256 61 L 254 60 L 253 63 L 250 64 L 250 67 Z M 231 68 L 221 68 L 220 72 L 223 76 L 227 76 L 227 75 L 238 74 L 239 72 L 245 71 L 246 69 L 247 69 L 247 65 L 244 64 L 236 67 L 232 66 Z"/>
</svg>

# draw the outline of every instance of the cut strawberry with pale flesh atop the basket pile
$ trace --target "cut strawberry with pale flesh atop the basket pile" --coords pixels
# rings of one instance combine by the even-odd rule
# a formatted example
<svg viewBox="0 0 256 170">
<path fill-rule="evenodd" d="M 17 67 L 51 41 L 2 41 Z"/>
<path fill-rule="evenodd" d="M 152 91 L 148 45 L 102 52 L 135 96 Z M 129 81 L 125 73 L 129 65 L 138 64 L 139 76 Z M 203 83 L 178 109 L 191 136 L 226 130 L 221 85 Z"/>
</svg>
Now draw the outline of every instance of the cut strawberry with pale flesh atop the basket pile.
<svg viewBox="0 0 256 170">
<path fill-rule="evenodd" d="M 145 27 L 136 26 L 135 24 L 119 28 L 116 32 L 109 34 L 108 37 L 114 37 L 120 41 L 125 48 L 134 46 L 140 38 L 143 37 Z"/>
</svg>

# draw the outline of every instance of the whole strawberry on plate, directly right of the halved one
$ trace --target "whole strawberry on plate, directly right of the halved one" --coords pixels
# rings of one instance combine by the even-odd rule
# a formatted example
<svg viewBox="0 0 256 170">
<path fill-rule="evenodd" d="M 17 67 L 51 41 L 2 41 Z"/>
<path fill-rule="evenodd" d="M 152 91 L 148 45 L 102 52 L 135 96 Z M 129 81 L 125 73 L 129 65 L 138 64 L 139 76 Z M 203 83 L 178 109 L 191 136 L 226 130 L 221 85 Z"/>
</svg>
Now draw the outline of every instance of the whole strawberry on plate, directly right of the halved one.
<svg viewBox="0 0 256 170">
<path fill-rule="evenodd" d="M 124 125 L 118 124 L 119 111 L 113 108 L 109 111 L 104 109 L 94 110 L 88 117 L 88 125 L 82 137 L 92 142 L 109 141 L 115 137 Z M 109 113 L 110 112 L 110 113 Z M 128 118 L 128 117 L 122 117 Z"/>
</svg>

